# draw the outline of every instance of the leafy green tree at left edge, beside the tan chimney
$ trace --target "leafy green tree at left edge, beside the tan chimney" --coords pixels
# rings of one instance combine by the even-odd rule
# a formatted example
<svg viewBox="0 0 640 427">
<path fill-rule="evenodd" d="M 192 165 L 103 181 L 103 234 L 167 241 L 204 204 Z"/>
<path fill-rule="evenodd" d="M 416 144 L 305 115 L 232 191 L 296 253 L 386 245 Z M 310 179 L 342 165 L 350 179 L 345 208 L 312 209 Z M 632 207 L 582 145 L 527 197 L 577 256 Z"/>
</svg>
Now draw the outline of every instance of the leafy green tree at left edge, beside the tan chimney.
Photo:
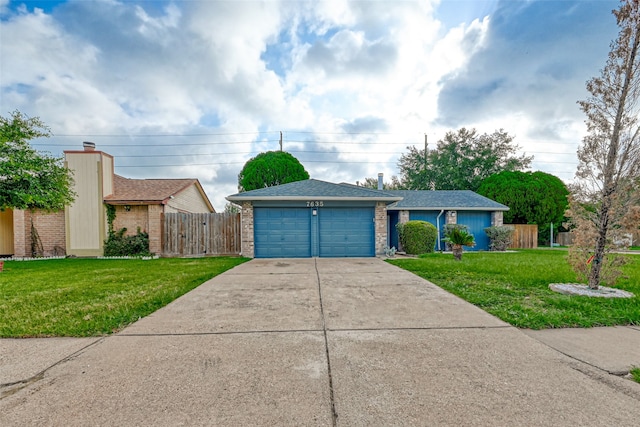
<svg viewBox="0 0 640 427">
<path fill-rule="evenodd" d="M 63 160 L 29 145 L 50 135 L 38 117 L 17 110 L 0 116 L 0 209 L 57 211 L 73 202 L 73 180 Z"/>
</svg>

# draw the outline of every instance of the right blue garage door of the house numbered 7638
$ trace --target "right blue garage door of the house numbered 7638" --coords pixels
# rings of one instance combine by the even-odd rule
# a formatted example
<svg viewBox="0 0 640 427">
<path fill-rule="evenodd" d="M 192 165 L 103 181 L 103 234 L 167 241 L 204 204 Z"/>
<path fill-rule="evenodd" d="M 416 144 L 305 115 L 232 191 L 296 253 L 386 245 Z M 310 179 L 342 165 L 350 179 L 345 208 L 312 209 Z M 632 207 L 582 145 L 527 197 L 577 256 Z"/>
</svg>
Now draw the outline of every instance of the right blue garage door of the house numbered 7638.
<svg viewBox="0 0 640 427">
<path fill-rule="evenodd" d="M 318 209 L 321 257 L 375 256 L 373 208 Z"/>
</svg>

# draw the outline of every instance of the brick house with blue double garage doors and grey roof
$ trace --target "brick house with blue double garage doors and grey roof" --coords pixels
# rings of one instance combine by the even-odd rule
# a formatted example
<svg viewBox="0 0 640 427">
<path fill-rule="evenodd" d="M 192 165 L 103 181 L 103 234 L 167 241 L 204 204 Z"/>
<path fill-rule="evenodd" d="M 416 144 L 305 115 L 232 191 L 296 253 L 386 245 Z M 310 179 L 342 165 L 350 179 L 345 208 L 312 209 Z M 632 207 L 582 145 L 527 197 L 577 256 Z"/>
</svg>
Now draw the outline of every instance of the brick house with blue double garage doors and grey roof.
<svg viewBox="0 0 640 427">
<path fill-rule="evenodd" d="M 509 208 L 472 191 L 386 191 L 309 179 L 227 197 L 242 207 L 242 255 L 256 258 L 372 257 L 398 247 L 396 224 L 425 219 L 442 230 L 484 227 Z M 479 233 L 481 231 L 481 234 Z"/>
</svg>

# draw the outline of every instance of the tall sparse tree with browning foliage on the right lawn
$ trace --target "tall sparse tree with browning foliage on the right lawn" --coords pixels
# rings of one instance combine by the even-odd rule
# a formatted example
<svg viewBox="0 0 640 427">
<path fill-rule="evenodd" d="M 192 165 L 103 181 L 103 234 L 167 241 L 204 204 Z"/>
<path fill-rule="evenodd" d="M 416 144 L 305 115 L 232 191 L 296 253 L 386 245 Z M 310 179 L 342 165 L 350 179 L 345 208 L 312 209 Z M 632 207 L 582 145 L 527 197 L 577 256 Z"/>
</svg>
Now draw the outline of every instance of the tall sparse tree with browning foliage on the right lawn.
<svg viewBox="0 0 640 427">
<path fill-rule="evenodd" d="M 593 236 L 587 240 L 590 248 L 574 245 L 574 268 L 584 265 L 579 258 L 591 254 L 587 278 L 594 289 L 602 282 L 603 266 L 615 266 L 606 257 L 619 241 L 617 234 L 633 222 L 629 216 L 637 212 L 639 202 L 640 2 L 622 0 L 613 14 L 620 32 L 600 76 L 587 82 L 590 96 L 579 101 L 588 134 L 578 148 L 577 180 L 570 198 L 575 233 Z"/>
</svg>

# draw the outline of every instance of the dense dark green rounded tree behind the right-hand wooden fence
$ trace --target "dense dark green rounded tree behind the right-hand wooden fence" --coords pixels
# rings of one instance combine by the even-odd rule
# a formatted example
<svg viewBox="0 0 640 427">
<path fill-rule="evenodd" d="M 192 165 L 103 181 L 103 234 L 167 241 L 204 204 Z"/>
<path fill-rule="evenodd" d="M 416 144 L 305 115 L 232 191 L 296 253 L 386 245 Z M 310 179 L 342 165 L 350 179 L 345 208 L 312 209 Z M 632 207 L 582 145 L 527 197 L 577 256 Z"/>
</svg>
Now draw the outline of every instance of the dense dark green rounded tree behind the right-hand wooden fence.
<svg viewBox="0 0 640 427">
<path fill-rule="evenodd" d="M 500 172 L 485 179 L 478 193 L 509 206 L 507 224 L 538 224 L 538 240 L 548 242 L 550 224 L 564 221 L 568 200 L 566 185 L 545 172 Z"/>
</svg>

